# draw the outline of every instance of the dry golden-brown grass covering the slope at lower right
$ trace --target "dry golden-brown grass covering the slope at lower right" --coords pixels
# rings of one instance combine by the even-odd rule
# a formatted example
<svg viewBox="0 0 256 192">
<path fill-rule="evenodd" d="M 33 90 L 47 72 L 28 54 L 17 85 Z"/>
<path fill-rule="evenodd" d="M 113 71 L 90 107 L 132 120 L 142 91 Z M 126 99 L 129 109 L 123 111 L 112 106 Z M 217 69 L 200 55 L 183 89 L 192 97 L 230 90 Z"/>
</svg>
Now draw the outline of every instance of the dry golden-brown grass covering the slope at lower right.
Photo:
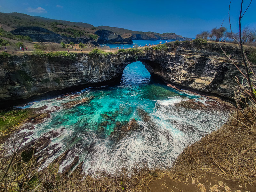
<svg viewBox="0 0 256 192">
<path fill-rule="evenodd" d="M 251 113 L 247 116 L 251 120 L 255 118 Z M 245 184 L 255 184 L 255 126 L 251 126 L 238 112 L 221 129 L 184 149 L 171 172 L 172 177 L 182 178 L 193 176 L 196 172 L 212 172 Z"/>
</svg>

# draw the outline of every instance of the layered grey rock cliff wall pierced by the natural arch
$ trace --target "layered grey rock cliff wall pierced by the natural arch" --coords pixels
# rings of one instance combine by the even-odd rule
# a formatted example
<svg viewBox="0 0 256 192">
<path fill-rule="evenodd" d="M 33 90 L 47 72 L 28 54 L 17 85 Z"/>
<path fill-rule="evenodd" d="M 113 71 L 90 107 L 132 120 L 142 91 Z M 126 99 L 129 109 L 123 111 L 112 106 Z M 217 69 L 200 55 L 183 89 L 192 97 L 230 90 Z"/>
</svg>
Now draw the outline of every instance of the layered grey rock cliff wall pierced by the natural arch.
<svg viewBox="0 0 256 192">
<path fill-rule="evenodd" d="M 53 90 L 90 85 L 113 80 L 131 62 L 141 61 L 151 74 L 167 82 L 191 89 L 233 96 L 235 76 L 243 77 L 221 53 L 215 43 L 197 47 L 191 42 L 167 49 L 134 49 L 110 55 L 81 53 L 75 58 L 62 56 L 0 57 L 0 101 L 29 98 Z M 229 56 L 243 69 L 240 51 L 234 44 L 223 44 Z M 246 82 L 246 81 L 244 81 Z"/>
</svg>

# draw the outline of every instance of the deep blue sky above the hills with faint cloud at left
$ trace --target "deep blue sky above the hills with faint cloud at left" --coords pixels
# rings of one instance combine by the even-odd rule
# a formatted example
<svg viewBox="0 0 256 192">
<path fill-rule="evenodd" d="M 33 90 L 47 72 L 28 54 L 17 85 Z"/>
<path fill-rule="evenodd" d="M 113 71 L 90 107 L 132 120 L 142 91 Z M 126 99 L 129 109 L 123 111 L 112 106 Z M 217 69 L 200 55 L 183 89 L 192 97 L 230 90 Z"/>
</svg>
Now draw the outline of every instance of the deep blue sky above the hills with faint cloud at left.
<svg viewBox="0 0 256 192">
<path fill-rule="evenodd" d="M 107 25 L 136 31 L 174 32 L 195 37 L 202 30 L 229 28 L 229 0 L 0 0 L 0 12 Z M 244 0 L 244 10 L 250 0 Z M 232 30 L 238 31 L 241 0 L 232 0 Z M 256 28 L 256 0 L 242 19 L 243 26 Z M 0 18 L 1 20 L 1 18 Z"/>
</svg>

